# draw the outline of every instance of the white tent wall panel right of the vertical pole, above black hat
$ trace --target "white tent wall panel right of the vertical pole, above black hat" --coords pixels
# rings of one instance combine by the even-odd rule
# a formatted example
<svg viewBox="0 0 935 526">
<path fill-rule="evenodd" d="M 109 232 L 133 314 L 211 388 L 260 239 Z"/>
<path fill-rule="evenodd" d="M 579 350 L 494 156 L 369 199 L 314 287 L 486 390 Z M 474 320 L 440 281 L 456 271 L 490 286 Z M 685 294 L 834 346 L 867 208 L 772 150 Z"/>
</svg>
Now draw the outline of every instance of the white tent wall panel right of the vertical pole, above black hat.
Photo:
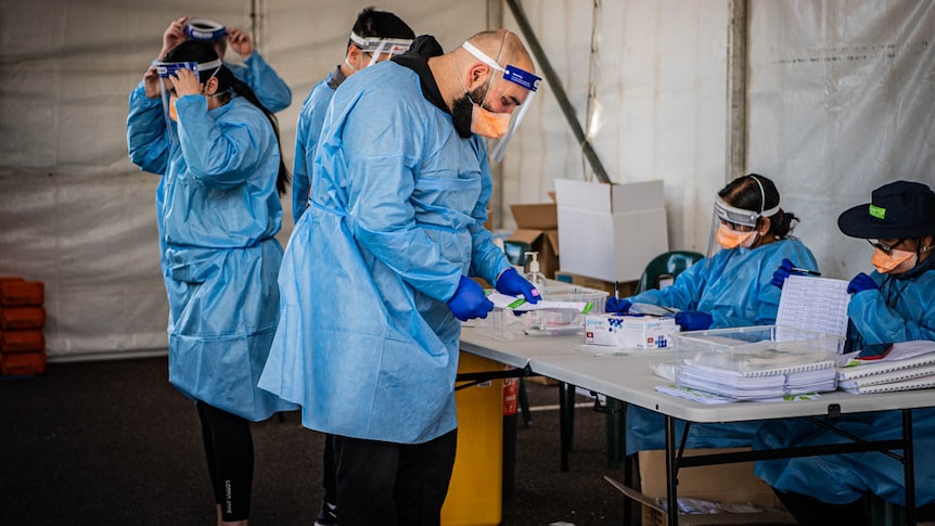
<svg viewBox="0 0 935 526">
<path fill-rule="evenodd" d="M 935 188 L 935 3 L 755 2 L 748 162 L 774 175 L 825 275 L 871 269 L 837 216 L 886 182 Z"/>
</svg>

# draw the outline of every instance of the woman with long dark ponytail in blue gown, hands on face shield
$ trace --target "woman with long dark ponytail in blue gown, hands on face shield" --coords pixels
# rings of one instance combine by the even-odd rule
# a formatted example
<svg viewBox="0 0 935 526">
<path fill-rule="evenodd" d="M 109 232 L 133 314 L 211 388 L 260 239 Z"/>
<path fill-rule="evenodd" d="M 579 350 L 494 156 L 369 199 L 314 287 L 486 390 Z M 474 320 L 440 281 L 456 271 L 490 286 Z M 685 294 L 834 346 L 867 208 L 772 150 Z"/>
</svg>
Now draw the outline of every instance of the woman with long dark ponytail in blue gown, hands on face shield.
<svg viewBox="0 0 935 526">
<path fill-rule="evenodd" d="M 273 236 L 289 172 L 274 117 L 210 44 L 182 42 L 165 61 L 130 94 L 127 140 L 132 162 L 163 176 L 156 224 L 169 382 L 195 400 L 218 523 L 246 524 L 249 422 L 296 409 L 256 385 L 279 319 L 282 246 Z M 179 63 L 196 63 L 197 74 L 170 69 Z"/>
</svg>

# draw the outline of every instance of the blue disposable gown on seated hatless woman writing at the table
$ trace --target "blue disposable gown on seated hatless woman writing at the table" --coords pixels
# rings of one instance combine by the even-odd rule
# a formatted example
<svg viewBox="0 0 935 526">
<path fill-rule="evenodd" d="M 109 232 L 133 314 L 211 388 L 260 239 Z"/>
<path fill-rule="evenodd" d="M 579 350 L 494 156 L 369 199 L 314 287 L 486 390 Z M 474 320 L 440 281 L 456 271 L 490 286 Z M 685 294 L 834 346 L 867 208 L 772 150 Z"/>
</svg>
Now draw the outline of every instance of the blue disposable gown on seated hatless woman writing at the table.
<svg viewBox="0 0 935 526">
<path fill-rule="evenodd" d="M 779 240 L 753 249 L 722 249 L 692 265 L 675 283 L 630 297 L 633 303 L 662 305 L 712 315 L 710 329 L 771 325 L 776 323 L 782 291 L 772 285 L 772 273 L 791 259 L 797 267 L 818 269 L 811 251 L 796 239 Z M 627 408 L 627 452 L 665 448 L 662 414 Z M 750 446 L 760 421 L 732 424 L 692 424 L 687 447 L 729 448 Z M 683 423 L 677 423 L 677 437 Z"/>
</svg>

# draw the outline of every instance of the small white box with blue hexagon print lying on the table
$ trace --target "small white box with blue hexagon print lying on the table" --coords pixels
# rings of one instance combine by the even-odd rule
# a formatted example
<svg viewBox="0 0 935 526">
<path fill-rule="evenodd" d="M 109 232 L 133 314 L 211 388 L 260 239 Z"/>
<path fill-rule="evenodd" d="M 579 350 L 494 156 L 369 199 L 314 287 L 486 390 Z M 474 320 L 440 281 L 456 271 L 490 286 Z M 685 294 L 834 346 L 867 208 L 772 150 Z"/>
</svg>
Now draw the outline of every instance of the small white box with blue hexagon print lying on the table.
<svg viewBox="0 0 935 526">
<path fill-rule="evenodd" d="M 588 315 L 585 318 L 585 343 L 620 349 L 667 349 L 669 335 L 679 326 L 671 317 Z"/>
</svg>

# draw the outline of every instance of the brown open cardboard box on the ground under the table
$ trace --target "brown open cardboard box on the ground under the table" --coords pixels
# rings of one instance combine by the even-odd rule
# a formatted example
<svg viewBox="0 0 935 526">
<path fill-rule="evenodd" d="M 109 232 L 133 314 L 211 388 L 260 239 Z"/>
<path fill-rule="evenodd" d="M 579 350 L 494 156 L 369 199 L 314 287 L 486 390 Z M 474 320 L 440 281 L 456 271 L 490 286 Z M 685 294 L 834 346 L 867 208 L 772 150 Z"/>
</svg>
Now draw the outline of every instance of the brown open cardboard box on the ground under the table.
<svg viewBox="0 0 935 526">
<path fill-rule="evenodd" d="M 742 451 L 743 449 L 687 449 L 688 457 L 706 453 Z M 623 483 L 604 477 L 625 498 L 642 504 L 643 526 L 667 524 L 666 456 L 665 451 L 640 451 L 640 490 L 628 488 Z M 792 515 L 782 509 L 772 489 L 753 474 L 753 462 L 720 464 L 679 470 L 679 498 L 694 498 L 722 504 L 754 504 L 765 509 L 758 513 L 680 514 L 679 524 L 796 524 Z"/>
</svg>

